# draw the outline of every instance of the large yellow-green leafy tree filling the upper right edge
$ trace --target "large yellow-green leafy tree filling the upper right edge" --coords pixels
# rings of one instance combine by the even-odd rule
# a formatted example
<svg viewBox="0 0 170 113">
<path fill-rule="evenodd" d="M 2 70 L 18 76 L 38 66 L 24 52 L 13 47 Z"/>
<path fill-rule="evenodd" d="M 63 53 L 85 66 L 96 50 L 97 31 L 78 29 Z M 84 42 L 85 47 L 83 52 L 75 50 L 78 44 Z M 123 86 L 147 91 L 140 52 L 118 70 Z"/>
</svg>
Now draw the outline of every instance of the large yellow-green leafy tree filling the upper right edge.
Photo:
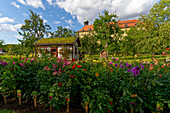
<svg viewBox="0 0 170 113">
<path fill-rule="evenodd" d="M 170 28 L 170 6 L 169 0 L 161 0 L 154 4 L 148 15 L 141 15 L 139 18 L 138 27 L 143 28 L 144 34 L 141 45 L 153 54 L 153 59 L 156 51 L 165 50 L 169 47 L 169 28 Z"/>
</svg>

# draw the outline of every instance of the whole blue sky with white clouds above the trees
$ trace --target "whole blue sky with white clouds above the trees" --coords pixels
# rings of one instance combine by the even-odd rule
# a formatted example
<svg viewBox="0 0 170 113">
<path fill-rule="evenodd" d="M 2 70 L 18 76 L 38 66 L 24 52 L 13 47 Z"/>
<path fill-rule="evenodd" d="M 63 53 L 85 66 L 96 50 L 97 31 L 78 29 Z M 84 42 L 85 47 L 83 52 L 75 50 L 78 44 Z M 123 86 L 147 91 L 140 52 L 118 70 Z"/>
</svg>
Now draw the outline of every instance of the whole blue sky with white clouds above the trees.
<svg viewBox="0 0 170 113">
<path fill-rule="evenodd" d="M 83 20 L 92 24 L 99 13 L 116 12 L 120 20 L 138 19 L 147 14 L 153 4 L 160 0 L 0 0 L 0 39 L 5 44 L 17 44 L 22 39 L 17 32 L 29 9 L 40 15 L 51 31 L 63 26 L 75 31 L 83 27 Z"/>
</svg>

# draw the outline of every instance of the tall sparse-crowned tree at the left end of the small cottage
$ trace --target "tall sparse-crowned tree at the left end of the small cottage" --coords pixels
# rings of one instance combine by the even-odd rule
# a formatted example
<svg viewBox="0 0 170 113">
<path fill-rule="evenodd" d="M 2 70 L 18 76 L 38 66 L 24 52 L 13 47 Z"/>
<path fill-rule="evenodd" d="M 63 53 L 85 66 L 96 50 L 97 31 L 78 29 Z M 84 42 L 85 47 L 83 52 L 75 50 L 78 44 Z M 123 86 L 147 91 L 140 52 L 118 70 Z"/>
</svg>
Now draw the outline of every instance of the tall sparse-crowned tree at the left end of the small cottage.
<svg viewBox="0 0 170 113">
<path fill-rule="evenodd" d="M 39 15 L 32 10 L 29 11 L 31 13 L 30 18 L 25 20 L 25 24 L 20 28 L 22 32 L 18 33 L 23 36 L 25 46 L 30 48 L 33 57 L 36 51 L 34 43 L 44 38 L 44 35 L 48 36 L 51 27 L 46 23 L 44 24 Z"/>
</svg>

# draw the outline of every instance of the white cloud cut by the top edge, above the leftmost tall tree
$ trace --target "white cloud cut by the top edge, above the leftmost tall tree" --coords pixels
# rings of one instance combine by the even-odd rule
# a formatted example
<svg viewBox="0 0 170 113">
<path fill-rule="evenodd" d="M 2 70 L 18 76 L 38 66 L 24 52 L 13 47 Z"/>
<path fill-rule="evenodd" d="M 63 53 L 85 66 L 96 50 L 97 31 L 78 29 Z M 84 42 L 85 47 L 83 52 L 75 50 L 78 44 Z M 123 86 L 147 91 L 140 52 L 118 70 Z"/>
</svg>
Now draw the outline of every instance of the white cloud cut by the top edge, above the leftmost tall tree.
<svg viewBox="0 0 170 113">
<path fill-rule="evenodd" d="M 32 6 L 34 8 L 43 8 L 45 10 L 45 7 L 42 3 L 42 0 L 18 0 L 18 2 L 20 2 L 23 5 L 28 5 L 28 6 Z"/>
</svg>

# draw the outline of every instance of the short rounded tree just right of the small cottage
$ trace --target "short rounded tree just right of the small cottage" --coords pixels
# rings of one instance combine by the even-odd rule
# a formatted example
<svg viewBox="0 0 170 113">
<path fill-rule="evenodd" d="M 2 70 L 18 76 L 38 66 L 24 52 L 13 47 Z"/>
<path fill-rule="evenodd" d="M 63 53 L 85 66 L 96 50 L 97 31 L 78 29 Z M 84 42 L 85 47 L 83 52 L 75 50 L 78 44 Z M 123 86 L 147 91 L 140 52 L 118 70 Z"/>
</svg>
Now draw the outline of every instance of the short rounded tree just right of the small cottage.
<svg viewBox="0 0 170 113">
<path fill-rule="evenodd" d="M 91 53 L 95 53 L 98 48 L 97 38 L 94 33 L 86 34 L 83 38 L 80 38 L 81 49 L 83 52 L 88 52 L 91 57 Z"/>
</svg>

